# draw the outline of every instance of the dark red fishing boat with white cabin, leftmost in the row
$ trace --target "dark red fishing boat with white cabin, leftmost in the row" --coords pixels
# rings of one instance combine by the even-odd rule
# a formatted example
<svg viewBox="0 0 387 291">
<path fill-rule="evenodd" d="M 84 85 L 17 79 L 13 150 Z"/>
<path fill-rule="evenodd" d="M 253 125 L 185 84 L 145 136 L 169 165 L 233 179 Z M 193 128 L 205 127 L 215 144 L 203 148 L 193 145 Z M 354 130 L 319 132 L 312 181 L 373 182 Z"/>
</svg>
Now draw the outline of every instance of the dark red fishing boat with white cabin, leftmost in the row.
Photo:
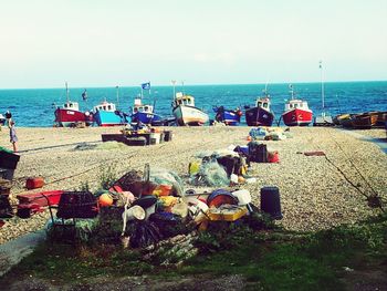
<svg viewBox="0 0 387 291">
<path fill-rule="evenodd" d="M 62 107 L 56 107 L 55 124 L 61 127 L 71 127 L 76 126 L 76 124 L 85 124 L 86 126 L 93 124 L 93 115 L 88 111 L 80 111 L 80 104 L 77 102 L 70 101 L 69 98 L 69 86 L 67 82 L 65 83 L 66 87 L 66 102 Z"/>
</svg>

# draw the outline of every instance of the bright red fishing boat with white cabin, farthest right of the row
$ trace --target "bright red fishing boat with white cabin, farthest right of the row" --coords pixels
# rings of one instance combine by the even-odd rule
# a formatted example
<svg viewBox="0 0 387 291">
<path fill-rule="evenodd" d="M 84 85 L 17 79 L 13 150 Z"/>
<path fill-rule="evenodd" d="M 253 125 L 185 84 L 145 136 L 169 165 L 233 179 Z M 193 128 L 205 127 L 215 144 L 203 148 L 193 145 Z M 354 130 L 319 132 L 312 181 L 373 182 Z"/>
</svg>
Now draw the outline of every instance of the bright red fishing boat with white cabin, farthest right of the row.
<svg viewBox="0 0 387 291">
<path fill-rule="evenodd" d="M 307 102 L 294 98 L 293 86 L 290 85 L 292 100 L 285 103 L 285 112 L 282 114 L 283 123 L 287 126 L 307 126 L 312 122 L 313 112 Z"/>
</svg>

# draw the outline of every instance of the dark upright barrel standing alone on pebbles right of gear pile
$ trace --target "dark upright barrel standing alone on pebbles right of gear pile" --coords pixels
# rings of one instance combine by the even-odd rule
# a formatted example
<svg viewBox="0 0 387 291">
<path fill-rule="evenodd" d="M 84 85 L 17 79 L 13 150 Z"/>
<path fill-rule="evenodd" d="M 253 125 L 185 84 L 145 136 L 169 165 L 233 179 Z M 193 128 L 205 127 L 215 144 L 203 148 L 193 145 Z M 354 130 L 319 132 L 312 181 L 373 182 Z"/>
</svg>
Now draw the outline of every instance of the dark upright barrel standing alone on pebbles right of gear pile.
<svg viewBox="0 0 387 291">
<path fill-rule="evenodd" d="M 261 188 L 261 210 L 273 219 L 282 219 L 280 190 L 275 186 Z"/>
</svg>

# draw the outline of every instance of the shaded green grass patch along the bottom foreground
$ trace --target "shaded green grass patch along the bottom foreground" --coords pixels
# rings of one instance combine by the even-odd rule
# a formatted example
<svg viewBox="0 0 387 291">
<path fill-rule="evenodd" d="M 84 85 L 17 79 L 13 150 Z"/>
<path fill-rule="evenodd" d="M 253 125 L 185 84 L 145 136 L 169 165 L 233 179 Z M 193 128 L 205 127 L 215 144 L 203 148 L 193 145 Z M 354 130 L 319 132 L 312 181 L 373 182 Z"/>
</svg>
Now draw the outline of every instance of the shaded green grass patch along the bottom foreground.
<svg viewBox="0 0 387 291">
<path fill-rule="evenodd" d="M 199 256 L 178 269 L 146 262 L 138 251 L 112 245 L 44 243 L 7 278 L 33 276 L 61 283 L 97 276 L 242 274 L 249 290 L 344 290 L 344 267 L 362 270 L 387 264 L 387 215 L 313 233 L 221 228 L 201 233 L 196 243 Z"/>
</svg>

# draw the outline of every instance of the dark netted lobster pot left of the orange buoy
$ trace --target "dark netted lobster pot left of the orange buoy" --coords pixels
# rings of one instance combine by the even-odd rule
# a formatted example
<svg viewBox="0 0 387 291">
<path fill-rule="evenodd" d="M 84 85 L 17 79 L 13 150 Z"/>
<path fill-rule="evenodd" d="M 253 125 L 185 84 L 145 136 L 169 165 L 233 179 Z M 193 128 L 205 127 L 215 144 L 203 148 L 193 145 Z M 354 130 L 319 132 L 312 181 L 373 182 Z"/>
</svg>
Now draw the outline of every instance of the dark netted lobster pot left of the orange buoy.
<svg viewBox="0 0 387 291">
<path fill-rule="evenodd" d="M 98 215 L 96 198 L 90 191 L 65 191 L 61 195 L 59 218 L 94 218 Z"/>
</svg>

